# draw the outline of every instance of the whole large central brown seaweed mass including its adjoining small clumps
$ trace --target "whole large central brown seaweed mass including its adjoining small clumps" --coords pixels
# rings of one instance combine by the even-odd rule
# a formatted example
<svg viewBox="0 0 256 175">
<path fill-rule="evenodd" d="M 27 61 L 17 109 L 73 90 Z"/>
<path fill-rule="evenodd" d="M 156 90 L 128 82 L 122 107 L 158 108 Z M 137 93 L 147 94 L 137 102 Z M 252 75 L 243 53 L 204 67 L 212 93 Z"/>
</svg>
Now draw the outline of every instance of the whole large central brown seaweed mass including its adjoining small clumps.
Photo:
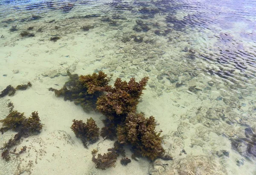
<svg viewBox="0 0 256 175">
<path fill-rule="evenodd" d="M 92 161 L 96 168 L 114 167 L 119 155 L 125 157 L 125 145 L 131 145 L 134 154 L 150 160 L 163 157 L 164 149 L 160 137 L 162 131 L 155 131 L 154 117 L 146 118 L 144 113 L 136 113 L 149 77 L 144 77 L 139 82 L 135 78 L 131 78 L 129 82 L 116 78 L 112 87 L 108 85 L 110 79 L 102 71 L 85 76 L 68 71 L 67 74 L 70 79 L 61 90 L 49 90 L 54 91 L 56 96 L 64 96 L 64 100 L 74 100 L 75 104 L 81 104 L 84 109 L 91 105 L 89 109 L 99 110 L 106 116 L 101 136 L 110 140 L 117 138 L 108 153 L 98 154 L 96 158 L 96 151 L 93 151 Z M 82 120 L 73 120 L 71 129 L 81 139 L 84 147 L 87 147 L 87 141 L 95 142 L 99 138 L 99 128 L 92 118 L 87 119 L 86 124 Z M 170 156 L 163 158 L 171 160 Z M 125 158 L 121 163 L 127 165 L 130 161 Z"/>
</svg>

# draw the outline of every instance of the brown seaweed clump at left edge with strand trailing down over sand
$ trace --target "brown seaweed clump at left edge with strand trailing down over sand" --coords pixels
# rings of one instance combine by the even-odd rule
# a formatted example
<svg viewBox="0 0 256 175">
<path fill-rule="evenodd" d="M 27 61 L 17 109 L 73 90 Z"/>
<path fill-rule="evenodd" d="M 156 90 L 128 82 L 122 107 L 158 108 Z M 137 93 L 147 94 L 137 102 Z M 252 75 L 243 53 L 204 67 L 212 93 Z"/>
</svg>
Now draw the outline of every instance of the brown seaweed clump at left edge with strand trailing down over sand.
<svg viewBox="0 0 256 175">
<path fill-rule="evenodd" d="M 2 152 L 2 158 L 6 161 L 9 161 L 9 150 L 17 145 L 20 142 L 20 138 L 29 137 L 32 134 L 40 133 L 44 124 L 41 124 L 40 118 L 38 116 L 38 112 L 32 112 L 31 116 L 26 119 L 24 113 L 19 113 L 17 110 L 12 111 L 5 119 L 0 120 L 3 123 L 2 128 L 0 128 L 1 133 L 3 134 L 7 130 L 14 130 L 17 132 L 14 138 L 10 139 L 4 147 L 1 147 L 0 150 L 4 150 Z M 22 153 L 26 151 L 26 147 L 19 152 Z"/>
</svg>

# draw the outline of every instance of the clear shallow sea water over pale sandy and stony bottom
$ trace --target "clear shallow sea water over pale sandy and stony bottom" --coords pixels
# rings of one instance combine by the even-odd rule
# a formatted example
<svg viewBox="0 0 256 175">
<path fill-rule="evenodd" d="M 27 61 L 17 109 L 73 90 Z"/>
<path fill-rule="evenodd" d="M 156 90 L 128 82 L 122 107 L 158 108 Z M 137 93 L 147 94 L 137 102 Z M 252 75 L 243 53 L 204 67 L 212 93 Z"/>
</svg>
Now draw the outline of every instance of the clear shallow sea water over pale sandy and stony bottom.
<svg viewBox="0 0 256 175">
<path fill-rule="evenodd" d="M 0 90 L 33 86 L 1 98 L 0 119 L 12 101 L 27 116 L 38 110 L 45 129 L 23 141 L 30 152 L 0 160 L 0 175 L 255 175 L 255 8 L 253 0 L 1 0 Z M 74 118 L 102 127 L 104 117 L 47 90 L 62 87 L 67 70 L 149 76 L 138 111 L 155 117 L 173 160 L 95 169 L 91 150 L 104 153 L 113 141 L 86 150 L 70 130 Z"/>
</svg>

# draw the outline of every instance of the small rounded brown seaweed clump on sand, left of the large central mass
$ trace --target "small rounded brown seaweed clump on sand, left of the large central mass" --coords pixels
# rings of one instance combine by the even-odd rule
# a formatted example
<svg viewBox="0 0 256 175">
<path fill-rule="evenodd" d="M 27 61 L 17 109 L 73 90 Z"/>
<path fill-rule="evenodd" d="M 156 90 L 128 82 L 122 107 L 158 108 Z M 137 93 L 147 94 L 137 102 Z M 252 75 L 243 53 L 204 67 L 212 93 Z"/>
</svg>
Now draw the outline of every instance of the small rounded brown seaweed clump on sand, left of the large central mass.
<svg viewBox="0 0 256 175">
<path fill-rule="evenodd" d="M 73 120 L 71 130 L 73 130 L 77 138 L 81 139 L 86 148 L 87 141 L 94 143 L 99 139 L 99 127 L 97 127 L 92 118 L 87 119 L 86 124 L 82 120 Z"/>
</svg>

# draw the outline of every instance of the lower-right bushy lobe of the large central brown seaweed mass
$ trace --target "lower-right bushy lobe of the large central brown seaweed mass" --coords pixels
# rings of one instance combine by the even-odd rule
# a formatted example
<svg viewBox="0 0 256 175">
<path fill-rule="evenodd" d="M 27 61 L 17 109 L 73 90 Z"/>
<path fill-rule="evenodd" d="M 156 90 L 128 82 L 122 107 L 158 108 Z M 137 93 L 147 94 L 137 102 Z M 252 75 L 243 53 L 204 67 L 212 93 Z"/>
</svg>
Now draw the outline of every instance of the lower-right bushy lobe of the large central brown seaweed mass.
<svg viewBox="0 0 256 175">
<path fill-rule="evenodd" d="M 163 155 L 162 138 L 155 131 L 153 116 L 145 118 L 143 113 L 129 113 L 124 124 L 117 127 L 117 138 L 121 144 L 131 144 L 135 152 L 154 160 Z"/>
</svg>

